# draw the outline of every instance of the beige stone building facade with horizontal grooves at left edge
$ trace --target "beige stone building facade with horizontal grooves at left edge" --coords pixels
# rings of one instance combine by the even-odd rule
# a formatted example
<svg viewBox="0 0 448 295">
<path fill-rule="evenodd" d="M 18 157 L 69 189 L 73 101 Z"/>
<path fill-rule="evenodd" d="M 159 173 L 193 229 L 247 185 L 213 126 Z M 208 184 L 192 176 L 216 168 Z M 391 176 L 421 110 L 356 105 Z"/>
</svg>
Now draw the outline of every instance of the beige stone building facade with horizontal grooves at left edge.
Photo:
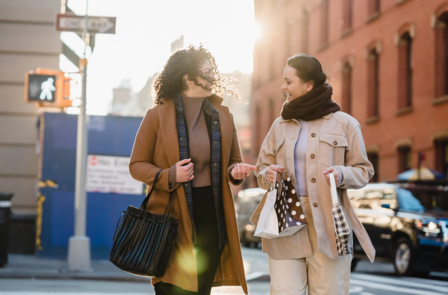
<svg viewBox="0 0 448 295">
<path fill-rule="evenodd" d="M 0 2 L 0 190 L 13 192 L 13 213 L 36 214 L 37 108 L 24 100 L 25 73 L 58 69 L 60 0 Z"/>
</svg>

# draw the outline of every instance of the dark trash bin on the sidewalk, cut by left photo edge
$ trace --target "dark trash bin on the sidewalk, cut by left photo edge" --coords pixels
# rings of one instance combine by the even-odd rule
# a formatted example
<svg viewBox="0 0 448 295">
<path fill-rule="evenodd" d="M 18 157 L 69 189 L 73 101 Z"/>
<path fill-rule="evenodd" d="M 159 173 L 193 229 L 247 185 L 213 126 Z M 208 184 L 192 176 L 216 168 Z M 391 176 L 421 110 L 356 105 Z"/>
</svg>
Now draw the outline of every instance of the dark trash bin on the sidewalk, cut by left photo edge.
<svg viewBox="0 0 448 295">
<path fill-rule="evenodd" d="M 8 236 L 13 195 L 0 192 L 0 267 L 8 263 Z"/>
</svg>

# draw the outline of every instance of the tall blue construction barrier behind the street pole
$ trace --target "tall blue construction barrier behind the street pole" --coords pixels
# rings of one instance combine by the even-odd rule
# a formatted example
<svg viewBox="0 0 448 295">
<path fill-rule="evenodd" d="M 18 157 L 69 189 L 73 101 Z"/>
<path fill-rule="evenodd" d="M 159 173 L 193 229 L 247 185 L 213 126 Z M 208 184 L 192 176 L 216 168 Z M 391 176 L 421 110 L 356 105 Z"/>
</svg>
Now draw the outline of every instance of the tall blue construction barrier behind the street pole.
<svg viewBox="0 0 448 295">
<path fill-rule="evenodd" d="M 42 187 L 41 249 L 37 256 L 67 256 L 68 238 L 74 230 L 74 186 L 76 172 L 76 115 L 44 113 L 38 134 L 43 146 L 40 155 L 41 180 L 51 180 L 57 188 Z M 142 118 L 90 116 L 88 154 L 129 157 Z M 142 184 L 143 186 L 143 184 Z M 89 192 L 87 194 L 87 236 L 92 259 L 108 259 L 118 218 L 128 205 L 139 206 L 141 195 Z"/>
</svg>

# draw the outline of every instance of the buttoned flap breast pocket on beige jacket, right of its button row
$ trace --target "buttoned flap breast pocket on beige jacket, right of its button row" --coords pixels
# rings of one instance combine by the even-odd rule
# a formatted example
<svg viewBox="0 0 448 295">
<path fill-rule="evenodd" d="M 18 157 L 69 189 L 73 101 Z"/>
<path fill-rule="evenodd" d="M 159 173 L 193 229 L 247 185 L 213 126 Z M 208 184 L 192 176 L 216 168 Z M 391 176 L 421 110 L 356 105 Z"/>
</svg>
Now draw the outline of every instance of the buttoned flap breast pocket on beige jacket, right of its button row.
<svg viewBox="0 0 448 295">
<path fill-rule="evenodd" d="M 348 146 L 344 134 L 321 133 L 319 135 L 320 163 L 327 167 L 343 166 L 345 163 L 345 148 Z"/>
</svg>

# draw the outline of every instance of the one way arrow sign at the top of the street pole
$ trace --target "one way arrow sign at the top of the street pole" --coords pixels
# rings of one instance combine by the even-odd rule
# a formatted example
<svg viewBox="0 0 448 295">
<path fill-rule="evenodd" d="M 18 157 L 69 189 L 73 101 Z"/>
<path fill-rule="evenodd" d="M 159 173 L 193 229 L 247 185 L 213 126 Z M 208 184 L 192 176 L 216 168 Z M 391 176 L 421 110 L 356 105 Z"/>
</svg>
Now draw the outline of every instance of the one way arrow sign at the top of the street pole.
<svg viewBox="0 0 448 295">
<path fill-rule="evenodd" d="M 88 32 L 91 34 L 115 34 L 115 17 L 93 17 L 89 16 Z M 56 16 L 56 31 L 68 31 L 82 33 L 86 29 L 86 16 L 65 13 Z"/>
</svg>

